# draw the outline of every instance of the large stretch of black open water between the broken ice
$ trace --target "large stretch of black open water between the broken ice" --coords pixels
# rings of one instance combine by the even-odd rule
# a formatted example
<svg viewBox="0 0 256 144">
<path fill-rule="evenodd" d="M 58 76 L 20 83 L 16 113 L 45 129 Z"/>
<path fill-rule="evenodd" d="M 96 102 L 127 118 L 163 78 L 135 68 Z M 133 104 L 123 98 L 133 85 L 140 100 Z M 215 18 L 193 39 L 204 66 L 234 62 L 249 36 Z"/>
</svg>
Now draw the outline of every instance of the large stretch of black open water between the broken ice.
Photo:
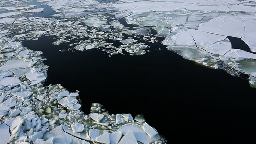
<svg viewBox="0 0 256 144">
<path fill-rule="evenodd" d="M 256 140 L 256 89 L 245 78 L 197 65 L 160 44 L 142 56 L 108 57 L 97 49 L 59 52 L 71 47 L 52 42 L 42 36 L 23 45 L 47 58 L 44 85 L 79 90 L 86 114 L 95 102 L 109 113 L 143 114 L 169 144 Z"/>
</svg>

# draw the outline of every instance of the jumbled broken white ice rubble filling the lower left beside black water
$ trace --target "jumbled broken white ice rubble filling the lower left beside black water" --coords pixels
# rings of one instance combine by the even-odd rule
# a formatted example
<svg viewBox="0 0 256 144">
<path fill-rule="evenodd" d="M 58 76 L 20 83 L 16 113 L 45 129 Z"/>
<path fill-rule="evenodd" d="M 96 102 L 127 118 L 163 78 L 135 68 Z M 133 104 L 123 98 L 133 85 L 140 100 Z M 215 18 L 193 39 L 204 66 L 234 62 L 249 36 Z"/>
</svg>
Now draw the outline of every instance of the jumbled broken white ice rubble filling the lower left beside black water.
<svg viewBox="0 0 256 144">
<path fill-rule="evenodd" d="M 85 115 L 80 111 L 78 92 L 71 93 L 61 85 L 42 85 L 48 67 L 43 59 L 35 59 L 41 52 L 5 36 L 0 40 L 2 52 L 13 53 L 0 58 L 0 139 L 5 144 L 122 144 L 130 142 L 125 137 L 131 134 L 134 143 L 165 143 L 154 128 L 130 114 L 110 115 L 94 103 L 91 113 Z"/>
</svg>

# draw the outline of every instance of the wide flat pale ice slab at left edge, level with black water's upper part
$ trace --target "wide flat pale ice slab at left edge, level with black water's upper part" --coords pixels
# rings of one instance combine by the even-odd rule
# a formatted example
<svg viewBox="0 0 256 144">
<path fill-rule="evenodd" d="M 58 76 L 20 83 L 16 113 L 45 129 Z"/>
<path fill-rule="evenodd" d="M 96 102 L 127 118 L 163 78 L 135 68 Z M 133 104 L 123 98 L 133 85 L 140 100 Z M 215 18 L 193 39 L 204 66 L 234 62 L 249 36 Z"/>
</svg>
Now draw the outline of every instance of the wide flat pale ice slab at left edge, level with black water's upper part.
<svg viewBox="0 0 256 144">
<path fill-rule="evenodd" d="M 21 69 L 31 67 L 31 62 L 25 62 L 25 60 L 8 60 L 3 66 L 0 67 L 0 71 Z"/>
</svg>

